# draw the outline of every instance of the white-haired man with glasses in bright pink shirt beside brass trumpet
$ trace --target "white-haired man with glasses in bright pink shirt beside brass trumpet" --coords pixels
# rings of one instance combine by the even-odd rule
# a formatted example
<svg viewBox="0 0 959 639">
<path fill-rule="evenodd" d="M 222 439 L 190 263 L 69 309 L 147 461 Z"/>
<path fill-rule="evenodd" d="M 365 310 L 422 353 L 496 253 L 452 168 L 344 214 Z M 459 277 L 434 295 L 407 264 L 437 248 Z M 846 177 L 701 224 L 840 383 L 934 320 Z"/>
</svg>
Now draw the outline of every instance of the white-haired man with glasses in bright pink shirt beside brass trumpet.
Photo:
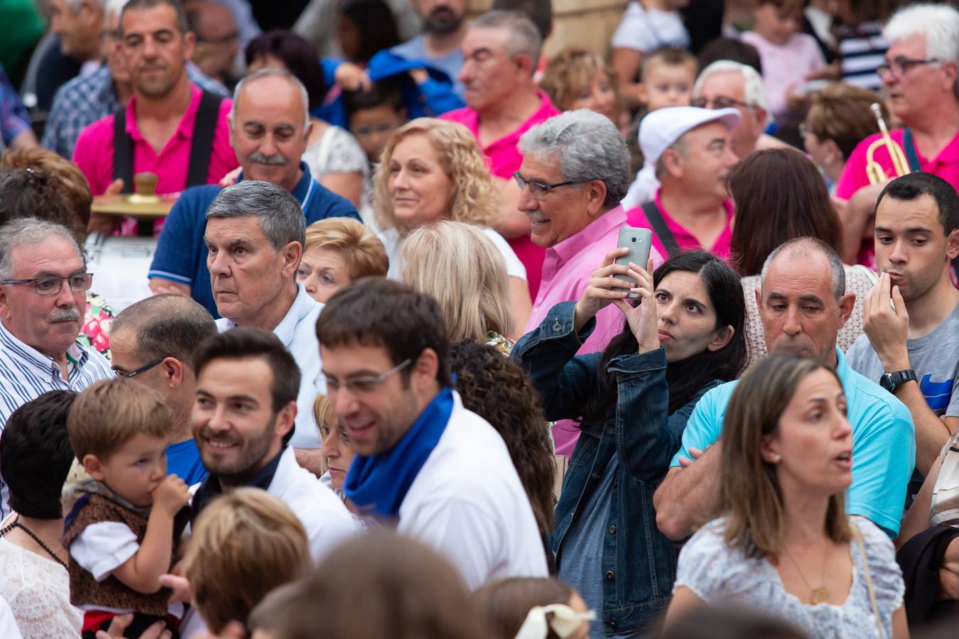
<svg viewBox="0 0 959 639">
<path fill-rule="evenodd" d="M 882 35 L 890 46 L 877 72 L 889 95 L 889 110 L 904 125 L 889 131 L 902 150 L 906 165 L 902 169 L 932 173 L 959 189 L 959 10 L 948 4 L 909 5 L 893 14 Z M 840 210 L 843 234 L 868 238 L 859 256 L 854 250 L 859 247 L 852 246 L 846 259 L 858 257 L 861 263 L 874 265 L 867 226 L 876 213 L 879 193 L 900 172 L 885 145 L 867 157 L 880 139 L 880 133 L 871 135 L 853 149 L 835 190 L 837 198 L 849 201 Z M 867 168 L 870 160 L 881 175 Z"/>
</svg>

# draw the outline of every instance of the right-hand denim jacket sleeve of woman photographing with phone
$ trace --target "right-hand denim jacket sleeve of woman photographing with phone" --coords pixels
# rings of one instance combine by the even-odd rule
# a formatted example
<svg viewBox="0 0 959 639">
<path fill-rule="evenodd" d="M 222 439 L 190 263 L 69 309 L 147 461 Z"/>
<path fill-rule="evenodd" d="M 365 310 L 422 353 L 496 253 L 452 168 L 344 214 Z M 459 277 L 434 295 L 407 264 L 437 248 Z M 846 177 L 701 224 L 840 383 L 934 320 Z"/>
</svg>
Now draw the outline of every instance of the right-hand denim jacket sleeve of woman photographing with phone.
<svg viewBox="0 0 959 639">
<path fill-rule="evenodd" d="M 636 479 L 662 481 L 669 460 L 679 447 L 696 401 L 715 383 L 707 384 L 682 408 L 669 415 L 666 350 L 619 355 L 607 371 L 617 379 L 616 448 L 620 464 Z"/>
</svg>

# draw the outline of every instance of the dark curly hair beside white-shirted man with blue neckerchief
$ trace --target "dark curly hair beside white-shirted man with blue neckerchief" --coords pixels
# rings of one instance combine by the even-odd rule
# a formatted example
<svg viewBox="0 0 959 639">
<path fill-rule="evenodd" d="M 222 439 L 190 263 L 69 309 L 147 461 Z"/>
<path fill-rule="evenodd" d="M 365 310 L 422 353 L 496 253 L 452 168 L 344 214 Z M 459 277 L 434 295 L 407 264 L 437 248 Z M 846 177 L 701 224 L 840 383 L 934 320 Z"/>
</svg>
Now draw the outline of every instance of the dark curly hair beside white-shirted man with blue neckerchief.
<svg viewBox="0 0 959 639">
<path fill-rule="evenodd" d="M 543 417 L 539 394 L 518 364 L 488 344 L 454 344 L 450 368 L 456 375 L 456 393 L 463 407 L 489 422 L 503 438 L 536 516 L 547 558 L 552 559 L 552 484 L 556 467 L 550 427 Z M 494 388 L 496 392 L 491 393 Z"/>
</svg>

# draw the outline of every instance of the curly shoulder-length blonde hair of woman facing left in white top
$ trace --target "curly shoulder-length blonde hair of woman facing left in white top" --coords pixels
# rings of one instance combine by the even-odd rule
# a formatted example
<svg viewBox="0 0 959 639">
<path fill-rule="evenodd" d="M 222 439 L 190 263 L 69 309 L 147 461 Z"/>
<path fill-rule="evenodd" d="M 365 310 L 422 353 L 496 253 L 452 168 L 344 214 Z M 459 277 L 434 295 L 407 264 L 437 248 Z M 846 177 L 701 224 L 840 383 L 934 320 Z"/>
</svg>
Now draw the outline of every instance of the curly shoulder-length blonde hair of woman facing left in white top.
<svg viewBox="0 0 959 639">
<path fill-rule="evenodd" d="M 417 118 L 393 131 L 376 168 L 373 178 L 374 212 L 380 228 L 395 229 L 403 237 L 409 233 L 409 229 L 396 219 L 388 181 L 393 150 L 410 135 L 427 137 L 439 158 L 439 166 L 453 182 L 447 218 L 478 226 L 494 226 L 500 217 L 496 192 L 476 138 L 460 124 L 434 118 Z"/>
</svg>

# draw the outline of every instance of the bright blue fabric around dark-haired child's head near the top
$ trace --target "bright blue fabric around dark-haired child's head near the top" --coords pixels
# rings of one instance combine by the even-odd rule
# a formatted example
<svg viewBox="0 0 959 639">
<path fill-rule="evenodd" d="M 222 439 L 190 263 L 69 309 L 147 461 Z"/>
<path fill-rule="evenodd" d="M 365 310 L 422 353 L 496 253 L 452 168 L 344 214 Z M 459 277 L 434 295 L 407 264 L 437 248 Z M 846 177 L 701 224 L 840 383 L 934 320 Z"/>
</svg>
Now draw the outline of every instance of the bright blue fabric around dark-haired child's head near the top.
<svg viewBox="0 0 959 639">
<path fill-rule="evenodd" d="M 447 73 L 438 68 L 430 60 L 409 59 L 399 56 L 395 49 L 384 50 L 370 58 L 366 66 L 369 79 L 378 82 L 387 78 L 402 78 L 403 104 L 407 109 L 407 117 L 434 118 L 447 111 L 466 106 L 462 98 L 454 90 L 456 78 L 450 78 Z M 336 82 L 336 73 L 339 59 L 324 59 L 322 61 L 324 80 L 329 86 Z M 412 69 L 426 69 L 430 77 L 422 84 L 417 84 L 409 77 Z M 327 100 L 314 111 L 314 115 L 331 125 L 349 128 L 346 111 L 343 107 L 342 92 L 335 87 L 327 95 Z"/>
</svg>

